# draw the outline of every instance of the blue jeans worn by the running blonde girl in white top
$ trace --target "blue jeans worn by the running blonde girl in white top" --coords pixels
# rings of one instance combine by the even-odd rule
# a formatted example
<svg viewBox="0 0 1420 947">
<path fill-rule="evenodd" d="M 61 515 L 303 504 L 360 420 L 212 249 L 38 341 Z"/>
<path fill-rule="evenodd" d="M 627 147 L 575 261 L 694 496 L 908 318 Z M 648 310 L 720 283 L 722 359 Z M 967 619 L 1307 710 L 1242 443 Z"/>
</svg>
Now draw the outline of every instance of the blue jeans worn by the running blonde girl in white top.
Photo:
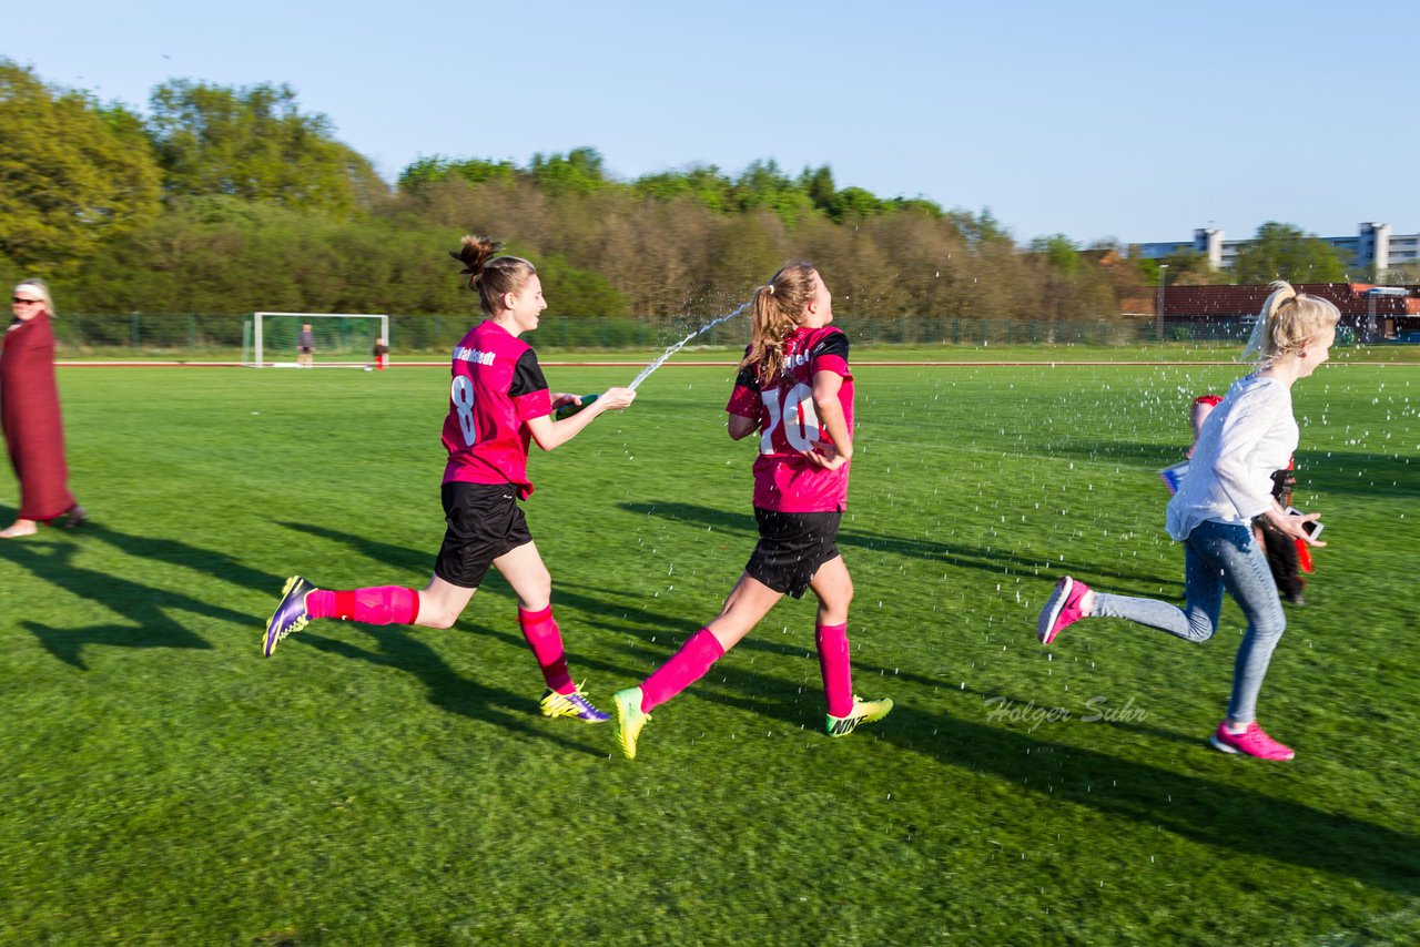
<svg viewBox="0 0 1420 947">
<path fill-rule="evenodd" d="M 1233 664 L 1228 717 L 1237 723 L 1257 718 L 1257 693 L 1272 660 L 1272 650 L 1287 629 L 1277 584 L 1267 554 L 1248 525 L 1200 522 L 1184 540 L 1184 606 L 1154 599 L 1095 593 L 1092 616 L 1123 618 L 1157 628 L 1190 642 L 1206 642 L 1218 630 L 1223 591 L 1247 616 L 1247 635 Z"/>
</svg>

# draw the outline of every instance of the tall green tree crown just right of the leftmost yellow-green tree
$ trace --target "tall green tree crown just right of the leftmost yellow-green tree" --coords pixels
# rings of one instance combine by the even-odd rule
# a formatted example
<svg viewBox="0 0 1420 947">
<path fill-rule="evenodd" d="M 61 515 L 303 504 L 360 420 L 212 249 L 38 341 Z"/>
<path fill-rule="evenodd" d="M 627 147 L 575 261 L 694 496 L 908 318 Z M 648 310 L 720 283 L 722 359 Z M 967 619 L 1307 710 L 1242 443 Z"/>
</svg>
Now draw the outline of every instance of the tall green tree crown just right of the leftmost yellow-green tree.
<svg viewBox="0 0 1420 947">
<path fill-rule="evenodd" d="M 290 85 L 178 80 L 153 89 L 149 135 L 170 196 L 226 195 L 351 214 L 386 193 L 369 162 L 302 115 Z"/>
</svg>

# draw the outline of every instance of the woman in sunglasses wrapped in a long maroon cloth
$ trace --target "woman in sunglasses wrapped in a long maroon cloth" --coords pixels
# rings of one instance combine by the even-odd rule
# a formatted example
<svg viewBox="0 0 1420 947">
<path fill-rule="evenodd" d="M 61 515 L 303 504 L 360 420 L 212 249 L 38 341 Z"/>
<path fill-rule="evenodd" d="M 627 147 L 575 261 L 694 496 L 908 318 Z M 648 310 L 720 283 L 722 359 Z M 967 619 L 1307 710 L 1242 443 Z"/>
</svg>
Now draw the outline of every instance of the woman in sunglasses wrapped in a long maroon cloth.
<svg viewBox="0 0 1420 947">
<path fill-rule="evenodd" d="M 64 422 L 54 383 L 54 304 L 44 280 L 26 280 L 10 298 L 14 321 L 0 345 L 0 426 L 20 481 L 20 511 L 0 538 L 34 535 L 38 524 L 84 521 L 64 464 Z"/>
</svg>

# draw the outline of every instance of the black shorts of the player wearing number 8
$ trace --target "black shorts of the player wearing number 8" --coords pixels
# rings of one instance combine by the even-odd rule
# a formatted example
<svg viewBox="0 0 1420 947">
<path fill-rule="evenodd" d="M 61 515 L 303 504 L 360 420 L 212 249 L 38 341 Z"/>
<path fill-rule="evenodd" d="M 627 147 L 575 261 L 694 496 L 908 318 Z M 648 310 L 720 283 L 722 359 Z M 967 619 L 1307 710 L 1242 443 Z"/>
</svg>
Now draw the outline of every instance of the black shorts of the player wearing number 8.
<svg viewBox="0 0 1420 947">
<path fill-rule="evenodd" d="M 450 585 L 479 588 L 494 559 L 532 541 L 518 488 L 510 483 L 446 483 L 440 496 L 449 525 L 435 575 Z"/>
</svg>

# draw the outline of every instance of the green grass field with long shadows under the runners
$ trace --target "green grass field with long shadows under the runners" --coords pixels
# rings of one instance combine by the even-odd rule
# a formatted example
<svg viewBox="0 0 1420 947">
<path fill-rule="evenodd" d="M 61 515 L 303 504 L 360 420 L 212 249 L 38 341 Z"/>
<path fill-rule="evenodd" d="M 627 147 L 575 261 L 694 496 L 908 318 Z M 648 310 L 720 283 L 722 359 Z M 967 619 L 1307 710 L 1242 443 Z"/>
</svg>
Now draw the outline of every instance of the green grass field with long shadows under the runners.
<svg viewBox="0 0 1420 947">
<path fill-rule="evenodd" d="M 1420 371 L 1336 362 L 1295 389 L 1298 505 L 1331 545 L 1262 691 L 1292 764 L 1204 743 L 1231 602 L 1203 646 L 1032 635 L 1061 571 L 1181 593 L 1154 471 L 1234 368 L 862 366 L 849 633 L 858 691 L 897 708 L 825 738 L 812 605 L 787 602 L 635 762 L 611 726 L 537 716 L 498 579 L 446 632 L 320 622 L 260 657 L 291 572 L 426 581 L 444 372 L 64 369 L 94 520 L 0 544 L 0 940 L 1414 943 Z M 604 707 L 753 547 L 728 379 L 667 368 L 532 457 Z"/>
</svg>

